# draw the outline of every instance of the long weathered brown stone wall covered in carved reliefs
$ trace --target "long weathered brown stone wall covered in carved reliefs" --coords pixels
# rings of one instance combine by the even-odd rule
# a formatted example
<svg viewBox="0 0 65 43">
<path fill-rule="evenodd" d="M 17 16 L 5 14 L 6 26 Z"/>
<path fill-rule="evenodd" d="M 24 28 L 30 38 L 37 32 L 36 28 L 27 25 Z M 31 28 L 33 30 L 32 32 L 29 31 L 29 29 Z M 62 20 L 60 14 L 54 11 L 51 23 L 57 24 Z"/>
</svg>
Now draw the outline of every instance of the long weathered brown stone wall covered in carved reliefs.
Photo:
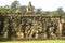
<svg viewBox="0 0 65 43">
<path fill-rule="evenodd" d="M 65 37 L 64 16 L 41 14 L 0 14 L 0 37 L 47 39 Z"/>
</svg>

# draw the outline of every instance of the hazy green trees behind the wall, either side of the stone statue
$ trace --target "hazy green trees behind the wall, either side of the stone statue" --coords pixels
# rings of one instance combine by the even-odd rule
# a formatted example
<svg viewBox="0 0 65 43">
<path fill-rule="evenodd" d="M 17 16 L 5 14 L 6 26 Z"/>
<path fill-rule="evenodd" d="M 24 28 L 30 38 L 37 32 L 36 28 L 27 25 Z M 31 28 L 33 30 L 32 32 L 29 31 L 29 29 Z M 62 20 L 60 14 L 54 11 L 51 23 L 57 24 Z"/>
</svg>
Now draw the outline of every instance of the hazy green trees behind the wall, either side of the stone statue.
<svg viewBox="0 0 65 43">
<path fill-rule="evenodd" d="M 55 11 L 43 11 L 42 9 L 36 9 L 32 6 L 32 11 L 35 13 L 39 13 L 42 15 L 64 15 L 65 12 L 63 11 L 63 8 L 57 8 Z M 11 5 L 4 5 L 0 6 L 0 13 L 25 13 L 26 12 L 26 6 L 21 5 L 18 1 L 14 1 L 11 3 Z"/>
</svg>

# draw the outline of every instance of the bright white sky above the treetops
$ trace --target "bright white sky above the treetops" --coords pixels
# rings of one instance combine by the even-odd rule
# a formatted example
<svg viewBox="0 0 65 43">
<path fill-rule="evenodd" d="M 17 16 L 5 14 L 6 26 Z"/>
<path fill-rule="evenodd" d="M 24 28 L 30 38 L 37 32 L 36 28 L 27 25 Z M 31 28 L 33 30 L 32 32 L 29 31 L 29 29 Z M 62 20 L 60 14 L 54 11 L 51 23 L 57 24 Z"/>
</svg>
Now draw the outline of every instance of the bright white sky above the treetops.
<svg viewBox="0 0 65 43">
<path fill-rule="evenodd" d="M 11 5 L 15 0 L 0 0 L 0 6 Z M 55 11 L 57 8 L 63 8 L 65 11 L 65 0 L 17 0 L 21 5 L 28 5 L 30 1 L 31 4 L 37 9 L 41 8 L 43 11 Z"/>
</svg>

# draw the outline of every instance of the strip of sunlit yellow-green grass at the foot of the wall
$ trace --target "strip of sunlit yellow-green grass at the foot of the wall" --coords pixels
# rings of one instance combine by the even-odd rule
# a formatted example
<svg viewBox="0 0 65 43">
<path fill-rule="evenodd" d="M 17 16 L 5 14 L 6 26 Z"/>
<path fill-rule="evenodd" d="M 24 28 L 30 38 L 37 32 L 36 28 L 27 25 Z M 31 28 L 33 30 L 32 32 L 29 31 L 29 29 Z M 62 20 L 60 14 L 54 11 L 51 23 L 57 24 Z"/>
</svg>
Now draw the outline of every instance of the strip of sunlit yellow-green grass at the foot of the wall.
<svg viewBox="0 0 65 43">
<path fill-rule="evenodd" d="M 42 40 L 42 41 L 6 41 L 0 43 L 65 43 L 65 40 Z"/>
</svg>

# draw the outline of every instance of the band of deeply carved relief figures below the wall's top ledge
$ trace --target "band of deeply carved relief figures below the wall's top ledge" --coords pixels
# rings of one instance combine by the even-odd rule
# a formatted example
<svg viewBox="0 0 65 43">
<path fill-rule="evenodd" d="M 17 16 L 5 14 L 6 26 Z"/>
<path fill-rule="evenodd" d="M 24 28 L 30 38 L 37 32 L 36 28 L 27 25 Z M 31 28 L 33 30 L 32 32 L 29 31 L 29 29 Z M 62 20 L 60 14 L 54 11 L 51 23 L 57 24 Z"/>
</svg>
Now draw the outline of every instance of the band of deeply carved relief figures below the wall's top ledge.
<svg viewBox="0 0 65 43">
<path fill-rule="evenodd" d="M 5 38 L 56 38 L 60 18 L 42 18 L 41 16 L 9 16 L 0 20 L 0 35 Z M 2 28 L 1 28 L 2 27 Z M 62 31 L 62 30 L 61 30 Z"/>
</svg>

